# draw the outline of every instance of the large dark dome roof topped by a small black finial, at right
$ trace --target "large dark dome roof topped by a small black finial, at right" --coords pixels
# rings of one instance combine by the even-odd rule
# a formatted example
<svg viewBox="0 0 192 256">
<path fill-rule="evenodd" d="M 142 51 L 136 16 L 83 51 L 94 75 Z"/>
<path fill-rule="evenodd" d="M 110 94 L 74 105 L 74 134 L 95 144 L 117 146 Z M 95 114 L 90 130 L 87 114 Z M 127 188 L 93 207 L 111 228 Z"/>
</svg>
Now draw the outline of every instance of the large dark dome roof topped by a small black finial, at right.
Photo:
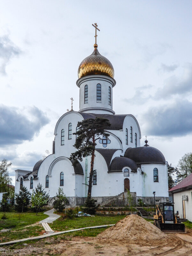
<svg viewBox="0 0 192 256">
<path fill-rule="evenodd" d="M 124 157 L 134 160 L 137 164 L 165 164 L 165 157 L 161 151 L 150 146 L 128 148 Z"/>
</svg>

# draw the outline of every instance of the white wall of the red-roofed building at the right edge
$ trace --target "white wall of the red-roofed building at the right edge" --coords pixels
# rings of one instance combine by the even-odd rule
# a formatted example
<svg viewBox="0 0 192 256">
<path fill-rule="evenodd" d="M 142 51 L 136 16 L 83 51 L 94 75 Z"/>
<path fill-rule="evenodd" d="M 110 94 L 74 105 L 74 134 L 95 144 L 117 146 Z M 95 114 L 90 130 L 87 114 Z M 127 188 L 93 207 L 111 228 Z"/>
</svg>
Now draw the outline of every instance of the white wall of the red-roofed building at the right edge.
<svg viewBox="0 0 192 256">
<path fill-rule="evenodd" d="M 183 202 L 182 202 L 182 196 L 186 195 L 188 196 L 188 201 L 185 201 L 185 215 L 186 219 L 189 221 L 192 221 L 192 196 L 191 196 L 192 190 L 185 190 L 181 192 L 177 192 L 173 194 L 173 200 L 174 200 L 174 212 L 176 213 L 179 211 L 180 218 L 183 218 Z"/>
</svg>

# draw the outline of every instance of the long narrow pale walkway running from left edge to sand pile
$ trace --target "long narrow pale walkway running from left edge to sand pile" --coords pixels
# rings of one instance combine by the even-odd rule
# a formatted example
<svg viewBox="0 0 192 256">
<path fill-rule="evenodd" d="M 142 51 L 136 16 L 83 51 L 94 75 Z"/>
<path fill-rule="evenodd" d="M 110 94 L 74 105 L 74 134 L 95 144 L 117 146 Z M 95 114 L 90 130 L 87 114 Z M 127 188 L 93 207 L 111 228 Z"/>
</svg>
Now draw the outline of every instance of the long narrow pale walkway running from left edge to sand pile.
<svg viewBox="0 0 192 256">
<path fill-rule="evenodd" d="M 73 231 L 79 231 L 79 230 L 83 230 L 83 229 L 105 228 L 105 227 L 110 227 L 110 226 L 114 226 L 114 225 L 115 225 L 115 224 L 109 224 L 109 225 L 94 226 L 94 227 L 87 227 L 87 228 L 80 228 L 80 229 L 70 229 L 70 230 L 65 230 L 65 231 L 60 231 L 60 232 L 54 232 L 54 233 L 47 233 L 47 234 L 45 234 L 45 235 L 38 236 L 38 237 L 28 237 L 28 238 L 18 239 L 18 240 L 14 240 L 14 241 L 9 241 L 9 242 L 0 243 L 0 246 L 1 246 L 1 245 L 6 245 L 6 244 L 16 244 L 16 243 L 24 242 L 24 241 L 27 241 L 27 240 L 42 239 L 42 238 L 45 238 L 45 237 L 56 236 L 56 235 L 65 234 L 65 233 L 73 232 Z"/>
</svg>

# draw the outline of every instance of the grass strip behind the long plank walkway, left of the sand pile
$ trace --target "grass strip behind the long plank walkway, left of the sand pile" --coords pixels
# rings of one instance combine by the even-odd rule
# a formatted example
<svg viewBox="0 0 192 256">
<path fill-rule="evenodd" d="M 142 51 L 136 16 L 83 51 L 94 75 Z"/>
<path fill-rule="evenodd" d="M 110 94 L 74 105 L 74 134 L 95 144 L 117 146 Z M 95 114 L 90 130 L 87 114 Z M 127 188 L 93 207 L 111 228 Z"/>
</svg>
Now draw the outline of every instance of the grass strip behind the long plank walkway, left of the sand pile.
<svg viewBox="0 0 192 256">
<path fill-rule="evenodd" d="M 57 219 L 53 223 L 50 223 L 50 227 L 53 230 L 64 231 L 69 229 L 79 229 L 100 225 L 115 224 L 119 220 L 125 218 L 125 215 L 115 215 L 115 216 L 95 216 L 95 217 L 86 217 L 81 216 L 72 220 L 61 218 Z"/>
</svg>

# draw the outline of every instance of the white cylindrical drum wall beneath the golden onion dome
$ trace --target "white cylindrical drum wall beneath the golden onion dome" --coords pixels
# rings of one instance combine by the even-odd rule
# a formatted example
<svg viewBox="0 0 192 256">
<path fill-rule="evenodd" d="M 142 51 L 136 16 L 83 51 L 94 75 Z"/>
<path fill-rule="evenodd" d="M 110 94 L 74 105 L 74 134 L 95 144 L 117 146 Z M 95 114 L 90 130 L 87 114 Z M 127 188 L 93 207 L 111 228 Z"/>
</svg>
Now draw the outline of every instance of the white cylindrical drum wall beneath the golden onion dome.
<svg viewBox="0 0 192 256">
<path fill-rule="evenodd" d="M 101 102 L 96 100 L 96 86 L 101 84 Z M 91 109 L 105 108 L 105 110 L 100 110 L 101 113 L 109 113 L 112 110 L 112 87 L 114 80 L 107 76 L 85 76 L 81 78 L 80 86 L 80 111 L 89 112 Z M 84 103 L 84 88 L 88 85 L 88 103 Z M 111 105 L 109 105 L 109 86 L 111 87 Z M 93 110 L 91 111 L 93 112 Z M 99 113 L 98 111 L 94 111 Z M 111 112 L 111 111 L 110 111 Z"/>
</svg>

